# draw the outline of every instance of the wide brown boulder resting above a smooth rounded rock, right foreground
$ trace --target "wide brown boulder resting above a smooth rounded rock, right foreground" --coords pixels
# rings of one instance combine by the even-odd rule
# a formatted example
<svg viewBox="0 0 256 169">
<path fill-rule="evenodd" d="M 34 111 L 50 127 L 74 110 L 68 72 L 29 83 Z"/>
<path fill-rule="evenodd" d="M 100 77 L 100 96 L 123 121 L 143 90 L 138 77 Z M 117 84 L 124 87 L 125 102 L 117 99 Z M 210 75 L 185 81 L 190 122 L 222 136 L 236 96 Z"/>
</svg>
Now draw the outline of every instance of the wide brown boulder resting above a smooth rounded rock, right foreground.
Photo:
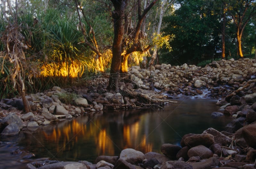
<svg viewBox="0 0 256 169">
<path fill-rule="evenodd" d="M 195 134 L 184 139 L 184 143 L 188 147 L 204 145 L 210 147 L 214 143 L 214 137 L 211 134 Z"/>
</svg>

